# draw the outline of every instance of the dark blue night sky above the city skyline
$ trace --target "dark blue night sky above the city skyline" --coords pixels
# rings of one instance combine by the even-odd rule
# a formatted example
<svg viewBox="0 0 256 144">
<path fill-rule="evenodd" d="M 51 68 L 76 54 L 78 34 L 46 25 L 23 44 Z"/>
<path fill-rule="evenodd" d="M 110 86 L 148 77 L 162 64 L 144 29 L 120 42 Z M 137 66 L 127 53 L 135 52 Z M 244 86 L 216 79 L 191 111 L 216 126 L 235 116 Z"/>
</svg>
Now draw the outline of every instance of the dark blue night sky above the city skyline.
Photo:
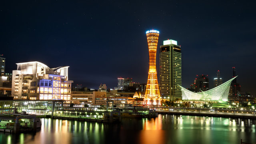
<svg viewBox="0 0 256 144">
<path fill-rule="evenodd" d="M 16 63 L 38 61 L 70 66 L 74 84 L 117 86 L 117 77 L 146 83 L 146 30 L 182 48 L 182 86 L 217 70 L 226 82 L 236 67 L 241 90 L 256 94 L 256 10 L 254 1 L 1 1 L 0 54 L 6 72 Z M 159 68 L 157 68 L 159 71 Z"/>
</svg>

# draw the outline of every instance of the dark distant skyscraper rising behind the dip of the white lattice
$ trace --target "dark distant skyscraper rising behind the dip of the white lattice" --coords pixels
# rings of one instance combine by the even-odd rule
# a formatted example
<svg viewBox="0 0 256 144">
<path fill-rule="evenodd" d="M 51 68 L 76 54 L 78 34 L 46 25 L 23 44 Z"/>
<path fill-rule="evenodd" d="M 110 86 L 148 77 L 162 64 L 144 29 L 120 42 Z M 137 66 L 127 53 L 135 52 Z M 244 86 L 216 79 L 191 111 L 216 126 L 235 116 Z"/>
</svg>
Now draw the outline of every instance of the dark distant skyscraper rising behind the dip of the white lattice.
<svg viewBox="0 0 256 144">
<path fill-rule="evenodd" d="M 198 75 L 196 75 L 198 76 Z M 200 75 L 196 78 L 196 87 L 195 87 L 195 92 L 204 92 L 206 90 L 209 90 L 209 80 L 208 80 L 208 75 Z"/>
</svg>

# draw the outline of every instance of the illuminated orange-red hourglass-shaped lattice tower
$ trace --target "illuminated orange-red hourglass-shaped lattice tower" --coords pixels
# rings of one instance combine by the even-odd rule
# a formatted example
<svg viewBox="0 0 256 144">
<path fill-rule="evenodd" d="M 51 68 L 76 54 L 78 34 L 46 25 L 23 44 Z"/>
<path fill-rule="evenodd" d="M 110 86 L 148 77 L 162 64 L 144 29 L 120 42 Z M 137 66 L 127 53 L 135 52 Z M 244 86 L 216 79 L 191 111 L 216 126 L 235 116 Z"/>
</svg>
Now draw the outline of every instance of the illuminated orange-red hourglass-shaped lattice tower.
<svg viewBox="0 0 256 144">
<path fill-rule="evenodd" d="M 149 71 L 144 106 L 161 106 L 160 92 L 156 76 L 156 49 L 159 37 L 158 30 L 146 31 L 149 52 Z"/>
</svg>

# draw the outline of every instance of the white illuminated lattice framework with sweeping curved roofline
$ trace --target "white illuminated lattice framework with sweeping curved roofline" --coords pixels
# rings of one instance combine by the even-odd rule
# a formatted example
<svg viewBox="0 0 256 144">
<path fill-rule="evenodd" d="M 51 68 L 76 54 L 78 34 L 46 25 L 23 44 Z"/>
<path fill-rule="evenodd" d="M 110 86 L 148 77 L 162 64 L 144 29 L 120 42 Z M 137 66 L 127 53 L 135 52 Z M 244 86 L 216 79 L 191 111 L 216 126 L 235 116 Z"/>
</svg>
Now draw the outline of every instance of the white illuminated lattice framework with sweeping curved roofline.
<svg viewBox="0 0 256 144">
<path fill-rule="evenodd" d="M 237 77 L 237 76 L 236 76 Z M 234 80 L 236 77 L 232 78 L 231 80 L 228 80 L 224 84 L 221 84 L 220 86 L 217 86 L 211 90 L 207 90 L 204 92 L 191 92 L 190 90 L 187 90 L 186 88 L 181 88 L 182 92 L 182 100 L 228 100 L 228 92 L 230 89 L 230 84 L 232 80 Z"/>
</svg>

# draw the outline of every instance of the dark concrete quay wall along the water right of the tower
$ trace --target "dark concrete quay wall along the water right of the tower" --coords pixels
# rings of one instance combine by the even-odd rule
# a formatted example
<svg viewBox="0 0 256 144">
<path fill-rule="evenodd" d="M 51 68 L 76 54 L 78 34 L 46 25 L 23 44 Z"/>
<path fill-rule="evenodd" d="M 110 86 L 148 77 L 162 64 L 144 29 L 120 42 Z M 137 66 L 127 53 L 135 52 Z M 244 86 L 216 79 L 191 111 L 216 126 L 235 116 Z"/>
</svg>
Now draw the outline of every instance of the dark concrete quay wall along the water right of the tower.
<svg viewBox="0 0 256 144">
<path fill-rule="evenodd" d="M 157 111 L 158 114 L 174 114 L 174 115 L 184 115 L 184 116 L 208 116 L 208 117 L 222 117 L 222 118 L 245 118 L 245 119 L 256 119 L 256 116 L 246 116 L 246 115 L 232 115 L 232 114 L 207 114 L 207 113 L 197 113 L 197 112 L 162 112 Z"/>
</svg>

